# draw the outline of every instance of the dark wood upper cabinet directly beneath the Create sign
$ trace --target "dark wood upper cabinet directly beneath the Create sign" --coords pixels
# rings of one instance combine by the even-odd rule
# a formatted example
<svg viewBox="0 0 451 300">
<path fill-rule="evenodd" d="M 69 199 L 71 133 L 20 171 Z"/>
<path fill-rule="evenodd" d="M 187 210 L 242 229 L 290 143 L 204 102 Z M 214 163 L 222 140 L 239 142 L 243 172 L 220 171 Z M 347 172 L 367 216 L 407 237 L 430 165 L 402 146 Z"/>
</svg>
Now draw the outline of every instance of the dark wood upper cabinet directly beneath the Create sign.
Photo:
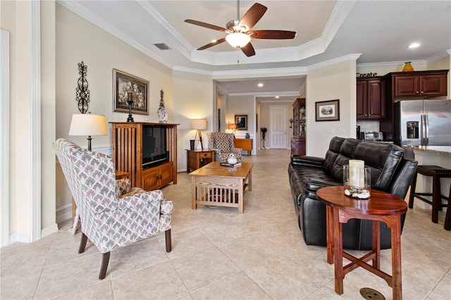
<svg viewBox="0 0 451 300">
<path fill-rule="evenodd" d="M 383 77 L 357 78 L 357 120 L 385 118 Z"/>
</svg>

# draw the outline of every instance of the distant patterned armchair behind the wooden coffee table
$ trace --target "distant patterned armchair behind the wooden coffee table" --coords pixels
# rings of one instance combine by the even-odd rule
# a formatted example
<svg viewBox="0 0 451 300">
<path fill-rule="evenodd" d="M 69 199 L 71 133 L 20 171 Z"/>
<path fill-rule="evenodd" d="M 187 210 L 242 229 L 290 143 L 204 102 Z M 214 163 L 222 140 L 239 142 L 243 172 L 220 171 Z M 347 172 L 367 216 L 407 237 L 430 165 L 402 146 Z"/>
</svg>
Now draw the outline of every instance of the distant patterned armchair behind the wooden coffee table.
<svg viewBox="0 0 451 300">
<path fill-rule="evenodd" d="M 233 146 L 233 134 L 226 132 L 211 132 L 209 138 L 209 149 L 215 150 L 215 161 L 227 162 L 231 153 L 235 154 L 238 163 L 242 163 L 242 149 Z"/>
</svg>

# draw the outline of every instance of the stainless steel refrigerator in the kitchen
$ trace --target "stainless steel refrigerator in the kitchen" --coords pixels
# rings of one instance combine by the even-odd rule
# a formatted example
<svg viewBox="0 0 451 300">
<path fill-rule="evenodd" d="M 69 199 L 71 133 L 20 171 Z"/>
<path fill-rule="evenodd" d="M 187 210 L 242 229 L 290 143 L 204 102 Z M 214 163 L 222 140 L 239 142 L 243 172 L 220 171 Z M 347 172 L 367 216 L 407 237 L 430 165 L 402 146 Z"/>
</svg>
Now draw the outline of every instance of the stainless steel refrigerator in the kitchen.
<svg viewBox="0 0 451 300">
<path fill-rule="evenodd" d="M 451 146 L 451 99 L 395 103 L 395 144 Z"/>
</svg>

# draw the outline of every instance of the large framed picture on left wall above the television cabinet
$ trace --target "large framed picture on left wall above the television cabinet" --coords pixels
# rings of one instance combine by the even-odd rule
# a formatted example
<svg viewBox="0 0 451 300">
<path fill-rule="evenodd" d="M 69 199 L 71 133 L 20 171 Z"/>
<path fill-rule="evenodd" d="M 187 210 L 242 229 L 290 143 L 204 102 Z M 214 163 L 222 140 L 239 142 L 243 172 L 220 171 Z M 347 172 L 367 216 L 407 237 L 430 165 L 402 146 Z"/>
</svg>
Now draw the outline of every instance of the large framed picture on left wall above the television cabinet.
<svg viewBox="0 0 451 300">
<path fill-rule="evenodd" d="M 149 115 L 149 82 L 142 78 L 113 69 L 113 111 L 128 113 L 128 99 L 132 100 L 132 113 Z"/>
</svg>

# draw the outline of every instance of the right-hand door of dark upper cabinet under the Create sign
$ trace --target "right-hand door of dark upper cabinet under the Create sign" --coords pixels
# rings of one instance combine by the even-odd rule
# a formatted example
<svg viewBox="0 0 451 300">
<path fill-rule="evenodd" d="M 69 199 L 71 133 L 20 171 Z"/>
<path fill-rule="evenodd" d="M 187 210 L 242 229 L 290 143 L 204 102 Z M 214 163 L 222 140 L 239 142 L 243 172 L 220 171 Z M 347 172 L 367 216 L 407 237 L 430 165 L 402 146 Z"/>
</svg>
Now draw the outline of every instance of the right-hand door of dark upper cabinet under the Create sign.
<svg viewBox="0 0 451 300">
<path fill-rule="evenodd" d="M 368 81 L 367 118 L 385 118 L 385 83 L 383 80 Z"/>
</svg>

